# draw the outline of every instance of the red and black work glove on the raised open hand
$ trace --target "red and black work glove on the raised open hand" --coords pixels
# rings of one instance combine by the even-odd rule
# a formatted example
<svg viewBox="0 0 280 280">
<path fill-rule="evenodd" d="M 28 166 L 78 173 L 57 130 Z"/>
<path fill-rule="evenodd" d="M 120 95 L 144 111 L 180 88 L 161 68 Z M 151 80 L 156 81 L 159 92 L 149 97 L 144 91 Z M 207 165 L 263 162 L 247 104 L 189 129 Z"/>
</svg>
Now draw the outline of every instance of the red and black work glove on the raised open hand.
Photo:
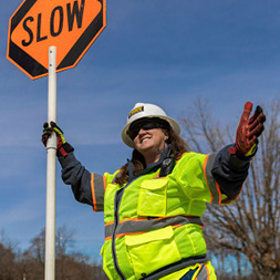
<svg viewBox="0 0 280 280">
<path fill-rule="evenodd" d="M 258 137 L 265 129 L 266 116 L 260 106 L 257 106 L 253 115 L 249 118 L 252 111 L 252 103 L 247 102 L 237 127 L 236 145 L 229 148 L 230 154 L 236 154 L 242 159 L 249 159 L 256 155 L 258 149 Z"/>
</svg>

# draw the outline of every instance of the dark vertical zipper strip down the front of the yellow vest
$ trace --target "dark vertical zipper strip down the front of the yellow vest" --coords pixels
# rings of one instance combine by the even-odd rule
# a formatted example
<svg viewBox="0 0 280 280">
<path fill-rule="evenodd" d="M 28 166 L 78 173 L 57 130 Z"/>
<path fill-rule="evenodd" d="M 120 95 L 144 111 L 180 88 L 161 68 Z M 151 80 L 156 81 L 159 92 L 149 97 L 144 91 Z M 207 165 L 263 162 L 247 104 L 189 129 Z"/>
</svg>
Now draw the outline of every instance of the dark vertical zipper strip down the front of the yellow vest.
<svg viewBox="0 0 280 280">
<path fill-rule="evenodd" d="M 120 203 L 121 203 L 121 196 L 122 193 L 124 191 L 124 188 L 118 189 L 115 194 L 115 209 L 114 209 L 114 229 L 113 229 L 113 235 L 112 235 L 112 255 L 113 255 L 113 261 L 114 261 L 114 266 L 116 269 L 117 274 L 121 277 L 122 280 L 125 280 L 125 277 L 123 274 L 123 272 L 121 271 L 118 263 L 117 263 L 117 258 L 116 258 L 116 249 L 115 249 L 115 241 L 116 241 L 116 228 L 118 225 L 118 208 L 120 208 Z"/>
</svg>

